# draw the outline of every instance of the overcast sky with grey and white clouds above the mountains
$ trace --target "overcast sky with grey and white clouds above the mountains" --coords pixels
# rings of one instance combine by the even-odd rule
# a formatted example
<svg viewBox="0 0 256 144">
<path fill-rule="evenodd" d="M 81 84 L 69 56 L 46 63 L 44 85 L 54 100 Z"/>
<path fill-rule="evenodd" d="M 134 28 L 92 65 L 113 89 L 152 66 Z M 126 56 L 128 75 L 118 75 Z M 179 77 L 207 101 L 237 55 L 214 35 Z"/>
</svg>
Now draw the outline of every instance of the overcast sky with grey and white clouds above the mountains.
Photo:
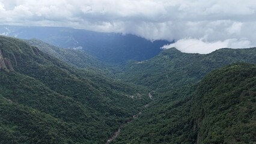
<svg viewBox="0 0 256 144">
<path fill-rule="evenodd" d="M 255 0 L 0 0 L 0 24 L 175 40 L 182 52 L 256 46 Z"/>
</svg>

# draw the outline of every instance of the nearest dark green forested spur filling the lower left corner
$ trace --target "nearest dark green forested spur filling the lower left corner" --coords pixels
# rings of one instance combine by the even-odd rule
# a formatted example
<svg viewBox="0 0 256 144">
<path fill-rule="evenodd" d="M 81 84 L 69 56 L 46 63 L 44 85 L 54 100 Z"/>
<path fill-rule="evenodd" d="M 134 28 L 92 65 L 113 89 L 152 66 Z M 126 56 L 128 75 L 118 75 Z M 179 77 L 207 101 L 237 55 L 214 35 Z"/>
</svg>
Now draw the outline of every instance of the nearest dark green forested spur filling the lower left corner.
<svg viewBox="0 0 256 144">
<path fill-rule="evenodd" d="M 101 141 L 94 133 L 106 126 L 96 110 L 23 74 L 0 76 L 0 143 Z"/>
</svg>

